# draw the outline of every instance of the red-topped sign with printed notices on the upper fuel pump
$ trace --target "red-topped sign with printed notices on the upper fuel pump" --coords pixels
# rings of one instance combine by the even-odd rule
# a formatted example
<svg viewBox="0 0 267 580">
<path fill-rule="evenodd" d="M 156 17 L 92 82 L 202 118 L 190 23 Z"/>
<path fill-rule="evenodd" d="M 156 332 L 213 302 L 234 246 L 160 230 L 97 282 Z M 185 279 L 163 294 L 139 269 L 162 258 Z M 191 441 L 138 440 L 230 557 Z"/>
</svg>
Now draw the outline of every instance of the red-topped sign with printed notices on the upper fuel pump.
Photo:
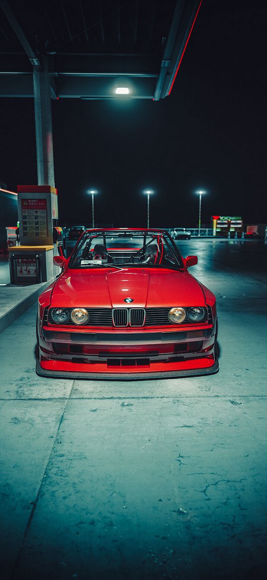
<svg viewBox="0 0 267 580">
<path fill-rule="evenodd" d="M 46 200 L 21 200 L 25 237 L 47 237 Z"/>
</svg>

